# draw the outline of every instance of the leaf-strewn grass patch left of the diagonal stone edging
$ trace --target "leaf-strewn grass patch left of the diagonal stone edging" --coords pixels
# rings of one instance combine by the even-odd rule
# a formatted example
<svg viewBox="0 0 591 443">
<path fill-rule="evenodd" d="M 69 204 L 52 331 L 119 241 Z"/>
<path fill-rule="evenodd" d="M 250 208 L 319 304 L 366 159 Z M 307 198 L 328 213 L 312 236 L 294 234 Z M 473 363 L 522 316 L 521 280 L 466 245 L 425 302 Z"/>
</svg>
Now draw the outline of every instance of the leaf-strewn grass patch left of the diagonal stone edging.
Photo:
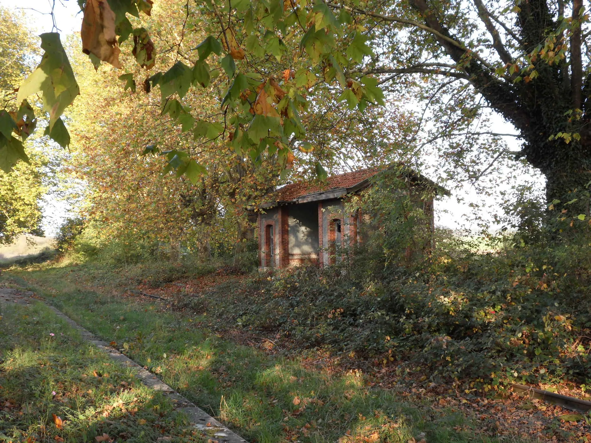
<svg viewBox="0 0 591 443">
<path fill-rule="evenodd" d="M 0 305 L 0 329 L 0 441 L 202 440 L 170 400 L 43 303 Z"/>
</svg>

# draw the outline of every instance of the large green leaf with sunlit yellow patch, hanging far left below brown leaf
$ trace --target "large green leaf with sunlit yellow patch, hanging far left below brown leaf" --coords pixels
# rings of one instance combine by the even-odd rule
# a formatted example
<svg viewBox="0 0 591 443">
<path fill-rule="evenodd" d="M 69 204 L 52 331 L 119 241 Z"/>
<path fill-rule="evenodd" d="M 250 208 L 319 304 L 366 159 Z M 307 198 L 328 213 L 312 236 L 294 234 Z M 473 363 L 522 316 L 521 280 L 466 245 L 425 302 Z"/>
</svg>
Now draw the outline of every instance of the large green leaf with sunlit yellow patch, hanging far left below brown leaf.
<svg viewBox="0 0 591 443">
<path fill-rule="evenodd" d="M 21 84 L 17 102 L 31 94 L 43 92 L 43 109 L 49 113 L 50 131 L 67 106 L 80 94 L 72 66 L 57 32 L 41 34 L 41 48 L 45 50 L 41 63 Z"/>
</svg>

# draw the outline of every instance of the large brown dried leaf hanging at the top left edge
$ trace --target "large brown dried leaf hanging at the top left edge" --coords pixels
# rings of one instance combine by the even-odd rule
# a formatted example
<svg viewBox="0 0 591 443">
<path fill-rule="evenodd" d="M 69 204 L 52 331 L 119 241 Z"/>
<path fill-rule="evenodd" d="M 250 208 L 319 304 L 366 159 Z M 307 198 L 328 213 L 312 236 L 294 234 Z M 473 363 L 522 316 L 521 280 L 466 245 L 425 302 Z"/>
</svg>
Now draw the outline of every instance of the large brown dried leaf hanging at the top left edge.
<svg viewBox="0 0 591 443">
<path fill-rule="evenodd" d="M 88 0 L 82 19 L 82 52 L 121 68 L 119 45 L 115 34 L 115 12 L 107 0 Z"/>
</svg>

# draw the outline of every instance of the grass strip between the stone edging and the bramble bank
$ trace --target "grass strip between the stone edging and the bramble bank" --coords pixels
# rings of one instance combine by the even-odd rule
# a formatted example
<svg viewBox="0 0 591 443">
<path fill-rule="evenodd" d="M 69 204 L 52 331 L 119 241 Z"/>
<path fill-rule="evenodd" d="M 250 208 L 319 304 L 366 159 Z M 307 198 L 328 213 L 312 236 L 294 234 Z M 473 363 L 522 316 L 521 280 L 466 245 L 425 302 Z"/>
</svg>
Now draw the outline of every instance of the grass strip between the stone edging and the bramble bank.
<svg viewBox="0 0 591 443">
<path fill-rule="evenodd" d="M 37 266 L 15 271 L 14 278 L 103 340 L 115 341 L 249 441 L 499 441 L 476 435 L 475 422 L 462 413 L 410 403 L 394 390 L 372 387 L 361 372 L 306 369 L 299 357 L 272 356 L 217 337 L 206 317 L 113 295 L 112 286 L 90 291 L 80 285 L 96 285 L 97 274 L 89 272 Z M 106 275 L 100 275 L 105 285 Z"/>
</svg>

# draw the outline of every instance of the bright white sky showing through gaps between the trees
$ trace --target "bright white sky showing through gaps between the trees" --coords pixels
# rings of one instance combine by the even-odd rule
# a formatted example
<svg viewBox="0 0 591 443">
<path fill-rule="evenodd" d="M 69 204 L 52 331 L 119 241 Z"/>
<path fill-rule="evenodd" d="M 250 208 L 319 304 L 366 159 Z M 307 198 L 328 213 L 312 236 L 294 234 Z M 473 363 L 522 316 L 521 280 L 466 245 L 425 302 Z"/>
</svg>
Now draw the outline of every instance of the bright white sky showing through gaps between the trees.
<svg viewBox="0 0 591 443">
<path fill-rule="evenodd" d="M 55 4 L 53 9 L 53 17 L 50 14 L 51 5 Z M 0 0 L 0 5 L 15 11 L 23 12 L 31 25 L 36 28 L 37 32 L 51 32 L 54 30 L 54 25 L 57 26 L 59 32 L 63 35 L 77 32 L 80 30 L 82 23 L 82 15 L 80 14 L 79 6 L 76 0 Z M 492 131 L 499 133 L 517 133 L 515 128 L 501 117 L 493 116 Z M 508 148 L 513 151 L 519 151 L 520 142 L 513 137 L 506 138 Z M 424 171 L 426 175 L 429 174 L 429 169 L 432 173 L 436 171 L 437 162 L 427 160 L 427 170 Z M 521 177 L 522 181 L 534 180 L 537 181 L 540 188 L 544 186 L 543 177 L 539 174 L 530 174 L 529 171 L 524 171 Z M 497 191 L 508 190 L 510 184 L 507 181 L 499 181 Z M 457 197 L 462 197 L 463 201 L 457 201 Z M 443 197 L 435 203 L 436 209 L 436 225 L 449 227 L 452 229 L 470 229 L 476 230 L 476 224 L 470 222 L 469 219 L 475 213 L 474 205 L 485 203 L 485 207 L 480 209 L 480 216 L 485 220 L 492 220 L 492 214 L 495 207 L 498 207 L 495 201 L 489 198 L 479 196 L 475 188 L 471 185 L 465 185 L 463 188 L 454 190 L 452 197 Z M 46 234 L 51 236 L 56 234 L 57 227 L 61 224 L 68 215 L 67 206 L 61 201 L 53 197 L 47 199 L 43 204 L 45 224 L 44 229 Z"/>
</svg>

